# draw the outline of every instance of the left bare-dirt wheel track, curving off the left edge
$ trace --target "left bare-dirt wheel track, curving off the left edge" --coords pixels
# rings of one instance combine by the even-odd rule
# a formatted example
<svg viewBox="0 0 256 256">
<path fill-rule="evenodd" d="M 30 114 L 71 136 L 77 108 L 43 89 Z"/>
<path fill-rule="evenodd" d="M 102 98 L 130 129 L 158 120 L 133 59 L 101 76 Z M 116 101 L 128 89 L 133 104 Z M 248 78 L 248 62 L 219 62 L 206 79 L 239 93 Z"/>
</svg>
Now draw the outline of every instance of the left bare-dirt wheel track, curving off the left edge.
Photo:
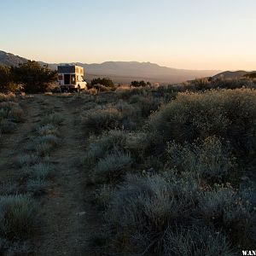
<svg viewBox="0 0 256 256">
<path fill-rule="evenodd" d="M 27 134 L 38 121 L 41 109 L 36 97 L 26 97 L 19 100 L 24 111 L 24 120 L 17 124 L 17 129 L 12 134 L 3 134 L 0 139 L 0 180 L 4 182 L 15 181 L 20 173 L 15 166 L 15 158 L 24 148 Z"/>
</svg>

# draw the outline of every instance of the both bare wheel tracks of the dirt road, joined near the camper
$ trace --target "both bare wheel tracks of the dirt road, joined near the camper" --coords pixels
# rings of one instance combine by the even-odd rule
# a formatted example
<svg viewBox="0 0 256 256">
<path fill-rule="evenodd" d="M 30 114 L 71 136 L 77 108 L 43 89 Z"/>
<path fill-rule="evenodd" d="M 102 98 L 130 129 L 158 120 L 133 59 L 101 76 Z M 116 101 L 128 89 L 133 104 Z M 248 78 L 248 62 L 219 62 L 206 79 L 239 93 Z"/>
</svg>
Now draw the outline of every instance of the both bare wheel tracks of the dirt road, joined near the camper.
<svg viewBox="0 0 256 256">
<path fill-rule="evenodd" d="M 82 107 L 69 97 L 36 95 L 20 101 L 25 120 L 14 134 L 1 138 L 0 177 L 14 182 L 20 176 L 15 158 L 29 143 L 32 127 L 46 111 L 61 113 L 61 145 L 50 154 L 55 166 L 46 194 L 37 198 L 40 206 L 38 226 L 34 236 L 35 255 L 90 255 L 88 240 L 96 232 L 96 211 L 90 205 L 86 189 L 85 170 L 81 163 L 84 154 L 84 134 L 74 124 Z"/>
</svg>

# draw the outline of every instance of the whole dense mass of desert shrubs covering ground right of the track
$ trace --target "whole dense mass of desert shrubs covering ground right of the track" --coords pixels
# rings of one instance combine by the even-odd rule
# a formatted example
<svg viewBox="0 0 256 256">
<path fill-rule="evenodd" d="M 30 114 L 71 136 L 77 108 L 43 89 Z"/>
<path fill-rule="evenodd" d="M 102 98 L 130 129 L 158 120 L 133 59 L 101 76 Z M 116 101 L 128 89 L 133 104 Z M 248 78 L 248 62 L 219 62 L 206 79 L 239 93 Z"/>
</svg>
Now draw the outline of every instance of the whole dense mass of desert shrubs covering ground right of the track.
<svg viewBox="0 0 256 256">
<path fill-rule="evenodd" d="M 253 246 L 255 90 L 212 90 L 218 82 L 118 89 L 103 103 L 123 126 L 102 125 L 87 141 L 104 221 L 97 253 L 236 255 Z"/>
</svg>

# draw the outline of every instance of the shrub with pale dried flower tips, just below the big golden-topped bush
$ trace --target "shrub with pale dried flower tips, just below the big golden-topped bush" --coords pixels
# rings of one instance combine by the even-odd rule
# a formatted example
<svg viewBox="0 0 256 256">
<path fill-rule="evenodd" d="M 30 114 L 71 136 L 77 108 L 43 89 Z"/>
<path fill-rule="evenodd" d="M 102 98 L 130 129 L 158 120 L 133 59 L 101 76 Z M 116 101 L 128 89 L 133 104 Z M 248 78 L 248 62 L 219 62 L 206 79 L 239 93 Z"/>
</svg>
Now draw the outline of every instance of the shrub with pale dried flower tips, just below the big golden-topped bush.
<svg viewBox="0 0 256 256">
<path fill-rule="evenodd" d="M 234 167 L 228 148 L 217 137 L 207 137 L 202 143 L 175 142 L 167 146 L 168 166 L 178 172 L 189 172 L 208 182 L 221 182 Z"/>
</svg>

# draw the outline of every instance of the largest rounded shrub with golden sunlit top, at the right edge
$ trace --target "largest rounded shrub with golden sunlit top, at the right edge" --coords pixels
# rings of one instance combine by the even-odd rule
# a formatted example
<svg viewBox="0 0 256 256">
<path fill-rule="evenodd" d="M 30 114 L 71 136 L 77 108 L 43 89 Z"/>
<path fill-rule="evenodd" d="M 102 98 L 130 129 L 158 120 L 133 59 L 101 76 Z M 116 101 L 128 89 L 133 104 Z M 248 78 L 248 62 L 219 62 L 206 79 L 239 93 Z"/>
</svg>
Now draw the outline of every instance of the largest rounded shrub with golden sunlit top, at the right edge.
<svg viewBox="0 0 256 256">
<path fill-rule="evenodd" d="M 150 126 L 162 142 L 192 143 L 196 138 L 224 137 L 237 153 L 253 153 L 255 90 L 211 90 L 181 93 L 151 116 Z"/>
</svg>

